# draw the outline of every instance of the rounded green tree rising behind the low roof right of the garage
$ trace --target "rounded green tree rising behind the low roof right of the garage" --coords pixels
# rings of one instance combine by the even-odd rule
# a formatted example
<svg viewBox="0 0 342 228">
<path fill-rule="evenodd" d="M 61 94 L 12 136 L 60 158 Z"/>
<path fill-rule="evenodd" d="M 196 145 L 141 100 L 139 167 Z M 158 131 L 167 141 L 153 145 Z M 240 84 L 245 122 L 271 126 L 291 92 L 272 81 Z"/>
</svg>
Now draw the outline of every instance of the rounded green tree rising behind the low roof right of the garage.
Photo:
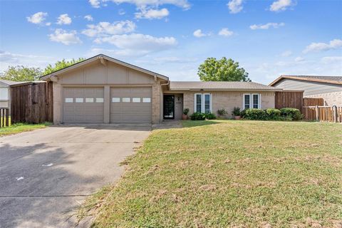
<svg viewBox="0 0 342 228">
<path fill-rule="evenodd" d="M 207 58 L 199 65 L 197 74 L 201 81 L 251 81 L 244 68 L 232 58 Z"/>
</svg>

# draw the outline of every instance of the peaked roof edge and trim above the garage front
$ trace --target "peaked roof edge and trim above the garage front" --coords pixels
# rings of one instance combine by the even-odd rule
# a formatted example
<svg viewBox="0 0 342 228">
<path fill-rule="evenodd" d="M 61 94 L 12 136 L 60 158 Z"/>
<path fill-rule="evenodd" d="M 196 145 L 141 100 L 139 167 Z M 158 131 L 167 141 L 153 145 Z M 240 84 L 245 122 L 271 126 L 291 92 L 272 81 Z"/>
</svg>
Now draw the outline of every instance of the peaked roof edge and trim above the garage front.
<svg viewBox="0 0 342 228">
<path fill-rule="evenodd" d="M 87 58 L 87 59 L 84 60 L 84 61 L 75 63 L 75 64 L 73 64 L 73 65 L 71 65 L 71 66 L 68 66 L 68 67 L 66 67 L 66 68 L 63 68 L 63 69 L 61 69 L 61 70 L 54 71 L 53 73 L 49 73 L 49 74 L 47 74 L 47 75 L 45 75 L 45 76 L 41 76 L 41 80 L 47 80 L 48 78 L 51 78 L 52 76 L 58 76 L 58 74 L 66 73 L 66 72 L 71 71 L 71 70 L 73 70 L 73 69 L 75 69 L 75 68 L 79 68 L 79 67 L 81 67 L 81 66 L 85 66 L 85 65 L 88 64 L 88 63 L 91 63 L 91 62 L 94 62 L 94 61 L 98 61 L 98 60 L 101 61 L 101 60 L 103 60 L 103 59 L 105 59 L 105 60 L 107 60 L 107 61 L 111 61 L 111 62 L 113 62 L 113 63 L 117 63 L 117 64 L 119 64 L 119 65 L 121 65 L 121 66 L 125 66 L 125 67 L 128 67 L 128 68 L 131 68 L 131 69 L 133 69 L 133 70 L 135 70 L 135 71 L 140 71 L 140 72 L 142 72 L 142 73 L 146 73 L 146 74 L 148 74 L 148 75 L 150 75 L 150 76 L 155 76 L 155 77 L 157 77 L 157 78 L 162 78 L 162 79 L 167 80 L 167 81 L 169 80 L 169 78 L 168 78 L 167 76 L 163 76 L 163 75 L 161 75 L 160 73 L 155 73 L 155 72 L 153 72 L 153 71 L 148 71 L 148 70 L 146 70 L 146 69 L 144 69 L 144 68 L 140 68 L 139 66 L 135 66 L 135 65 L 132 65 L 132 64 L 130 64 L 130 63 L 125 63 L 125 62 L 120 61 L 120 60 L 118 60 L 118 59 L 116 59 L 116 58 L 111 58 L 111 57 L 105 56 L 105 55 L 103 55 L 103 54 L 99 54 L 99 55 L 97 55 L 97 56 L 93 56 L 93 57 L 91 57 L 91 58 Z"/>
</svg>

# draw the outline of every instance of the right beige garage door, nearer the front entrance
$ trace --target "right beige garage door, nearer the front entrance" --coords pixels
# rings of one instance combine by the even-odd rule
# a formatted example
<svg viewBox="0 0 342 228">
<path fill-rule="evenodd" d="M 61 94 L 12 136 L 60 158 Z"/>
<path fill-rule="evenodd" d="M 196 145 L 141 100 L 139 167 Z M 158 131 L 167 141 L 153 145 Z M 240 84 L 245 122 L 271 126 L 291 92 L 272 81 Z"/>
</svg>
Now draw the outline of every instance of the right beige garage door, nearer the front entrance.
<svg viewBox="0 0 342 228">
<path fill-rule="evenodd" d="M 152 88 L 110 88 L 110 123 L 151 123 Z"/>
</svg>

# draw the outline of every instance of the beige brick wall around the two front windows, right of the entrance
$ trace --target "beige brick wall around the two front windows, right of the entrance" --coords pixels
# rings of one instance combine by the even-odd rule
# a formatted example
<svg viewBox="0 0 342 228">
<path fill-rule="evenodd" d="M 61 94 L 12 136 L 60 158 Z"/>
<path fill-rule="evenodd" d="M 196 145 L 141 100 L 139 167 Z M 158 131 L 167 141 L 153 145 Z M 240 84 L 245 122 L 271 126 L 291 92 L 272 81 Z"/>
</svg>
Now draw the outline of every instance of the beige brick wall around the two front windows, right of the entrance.
<svg viewBox="0 0 342 228">
<path fill-rule="evenodd" d="M 199 92 L 184 92 L 184 108 L 189 108 L 190 114 L 194 113 L 195 93 Z M 231 116 L 234 107 L 242 108 L 244 93 L 260 93 L 261 94 L 261 108 L 274 108 L 274 92 L 224 92 L 212 91 L 205 93 L 212 94 L 212 112 L 217 114 L 217 110 L 224 108 Z"/>
</svg>

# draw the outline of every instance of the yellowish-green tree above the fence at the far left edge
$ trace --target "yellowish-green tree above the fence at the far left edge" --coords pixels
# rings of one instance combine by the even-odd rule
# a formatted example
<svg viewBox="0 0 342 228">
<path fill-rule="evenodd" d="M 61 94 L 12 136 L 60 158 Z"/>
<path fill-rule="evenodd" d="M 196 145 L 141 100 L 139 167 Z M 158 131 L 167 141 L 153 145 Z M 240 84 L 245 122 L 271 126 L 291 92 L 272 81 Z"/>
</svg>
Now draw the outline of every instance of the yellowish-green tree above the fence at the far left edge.
<svg viewBox="0 0 342 228">
<path fill-rule="evenodd" d="M 9 66 L 0 73 L 0 78 L 10 81 L 38 81 L 41 76 L 41 68 L 28 68 L 25 66 Z"/>
</svg>

